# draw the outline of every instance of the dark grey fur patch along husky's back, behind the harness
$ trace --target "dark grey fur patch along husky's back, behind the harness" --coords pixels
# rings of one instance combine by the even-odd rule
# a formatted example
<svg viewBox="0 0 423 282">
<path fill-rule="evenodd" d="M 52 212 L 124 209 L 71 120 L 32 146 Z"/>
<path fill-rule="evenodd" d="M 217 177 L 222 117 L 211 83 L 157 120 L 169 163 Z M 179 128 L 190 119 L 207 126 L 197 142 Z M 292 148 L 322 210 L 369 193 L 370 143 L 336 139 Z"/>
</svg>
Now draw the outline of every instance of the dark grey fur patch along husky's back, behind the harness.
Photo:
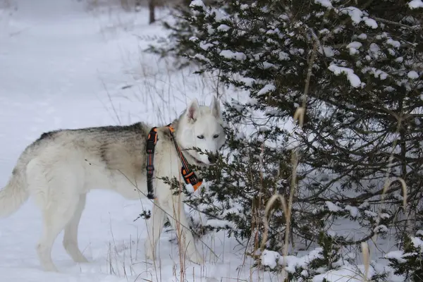
<svg viewBox="0 0 423 282">
<path fill-rule="evenodd" d="M 151 126 L 145 123 L 54 130 L 43 133 L 30 147 L 59 145 L 84 154 L 88 164 L 106 166 L 128 177 L 145 174 L 145 142 Z M 99 162 L 99 164 L 97 164 Z"/>
</svg>

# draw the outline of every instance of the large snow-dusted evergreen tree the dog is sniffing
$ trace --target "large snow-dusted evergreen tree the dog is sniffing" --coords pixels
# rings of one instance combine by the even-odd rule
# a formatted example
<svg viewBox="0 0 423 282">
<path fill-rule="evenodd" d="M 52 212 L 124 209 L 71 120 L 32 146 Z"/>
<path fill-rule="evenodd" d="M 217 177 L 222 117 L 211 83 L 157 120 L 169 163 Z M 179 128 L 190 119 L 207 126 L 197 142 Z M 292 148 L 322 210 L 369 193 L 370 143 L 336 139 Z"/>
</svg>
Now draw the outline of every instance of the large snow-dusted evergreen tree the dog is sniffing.
<svg viewBox="0 0 423 282">
<path fill-rule="evenodd" d="M 293 185 L 291 247 L 322 244 L 322 232 L 338 219 L 366 232 L 343 237 L 342 246 L 391 228 L 398 238 L 422 228 L 423 9 L 414 2 L 206 7 L 195 0 L 191 11 L 179 11 L 174 44 L 162 51 L 248 93 L 225 104 L 225 151 L 219 166 L 203 171 L 209 187 L 189 201 L 227 223 L 209 228 L 228 228 L 257 256 L 266 216 L 264 247 L 282 253 L 286 209 L 277 202 L 266 214 L 264 207 L 275 193 L 289 199 Z M 302 127 L 293 121 L 301 107 Z M 295 181 L 292 151 L 299 156 Z"/>
</svg>

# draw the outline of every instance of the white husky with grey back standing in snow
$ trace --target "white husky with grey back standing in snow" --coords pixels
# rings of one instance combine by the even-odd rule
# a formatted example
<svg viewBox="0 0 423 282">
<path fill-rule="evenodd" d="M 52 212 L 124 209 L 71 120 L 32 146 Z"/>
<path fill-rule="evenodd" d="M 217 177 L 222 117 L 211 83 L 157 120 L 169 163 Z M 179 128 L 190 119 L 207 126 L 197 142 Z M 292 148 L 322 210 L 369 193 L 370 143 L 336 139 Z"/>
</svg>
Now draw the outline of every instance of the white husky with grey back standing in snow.
<svg viewBox="0 0 423 282">
<path fill-rule="evenodd" d="M 200 106 L 192 100 L 188 109 L 171 126 L 157 128 L 154 152 L 154 207 L 148 222 L 145 253 L 155 258 L 155 249 L 166 216 L 175 230 L 183 256 L 202 263 L 185 216 L 183 195 L 158 178 L 181 179 L 181 159 L 176 144 L 189 164 L 209 166 L 216 162 L 209 154 L 225 142 L 219 102 Z M 78 224 L 85 197 L 92 189 L 115 190 L 128 199 L 147 195 L 146 140 L 151 126 L 135 123 L 44 133 L 20 155 L 6 187 L 0 190 L 0 216 L 8 216 L 32 195 L 42 210 L 42 237 L 37 253 L 42 267 L 56 271 L 51 247 L 64 229 L 63 246 L 75 262 L 87 262 L 78 247 Z M 137 188 L 135 188 L 135 185 Z"/>
</svg>

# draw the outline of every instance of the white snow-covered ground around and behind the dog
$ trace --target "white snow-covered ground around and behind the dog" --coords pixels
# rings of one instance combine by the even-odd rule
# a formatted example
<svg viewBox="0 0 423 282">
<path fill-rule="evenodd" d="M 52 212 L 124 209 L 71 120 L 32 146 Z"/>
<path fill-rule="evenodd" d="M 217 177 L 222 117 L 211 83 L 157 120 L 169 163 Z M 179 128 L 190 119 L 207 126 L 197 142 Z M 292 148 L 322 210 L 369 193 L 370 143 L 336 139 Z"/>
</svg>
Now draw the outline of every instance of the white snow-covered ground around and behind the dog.
<svg viewBox="0 0 423 282">
<path fill-rule="evenodd" d="M 166 11 L 159 11 L 165 16 Z M 209 103 L 211 80 L 143 54 L 151 39 L 166 36 L 148 25 L 148 11 L 92 8 L 75 0 L 3 0 L 0 4 L 0 187 L 20 153 L 49 130 L 147 121 L 170 122 L 191 98 Z M 61 245 L 52 258 L 59 273 L 44 272 L 35 245 L 39 210 L 31 200 L 0 219 L 0 281 L 181 281 L 178 247 L 163 233 L 160 260 L 146 261 L 145 221 L 133 221 L 148 200 L 129 201 L 104 190 L 90 192 L 78 240 L 90 259 L 75 264 Z M 208 235 L 202 266 L 187 262 L 186 281 L 266 281 L 253 272 L 243 247 L 224 233 Z M 239 268 L 238 266 L 243 265 Z M 276 279 L 277 280 L 277 279 Z M 274 280 L 275 281 L 275 278 Z"/>
</svg>

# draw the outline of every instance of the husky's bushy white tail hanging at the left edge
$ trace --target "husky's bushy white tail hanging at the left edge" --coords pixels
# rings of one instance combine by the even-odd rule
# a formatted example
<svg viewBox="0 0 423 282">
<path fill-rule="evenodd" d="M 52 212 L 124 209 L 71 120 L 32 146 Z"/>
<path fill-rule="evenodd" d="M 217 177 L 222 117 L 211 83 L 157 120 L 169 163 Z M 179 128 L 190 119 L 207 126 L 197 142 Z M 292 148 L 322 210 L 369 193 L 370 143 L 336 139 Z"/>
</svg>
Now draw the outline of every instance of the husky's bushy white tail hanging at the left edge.
<svg viewBox="0 0 423 282">
<path fill-rule="evenodd" d="M 6 217 L 16 212 L 30 196 L 25 177 L 25 163 L 21 160 L 18 161 L 6 187 L 0 190 L 0 217 Z"/>
</svg>

